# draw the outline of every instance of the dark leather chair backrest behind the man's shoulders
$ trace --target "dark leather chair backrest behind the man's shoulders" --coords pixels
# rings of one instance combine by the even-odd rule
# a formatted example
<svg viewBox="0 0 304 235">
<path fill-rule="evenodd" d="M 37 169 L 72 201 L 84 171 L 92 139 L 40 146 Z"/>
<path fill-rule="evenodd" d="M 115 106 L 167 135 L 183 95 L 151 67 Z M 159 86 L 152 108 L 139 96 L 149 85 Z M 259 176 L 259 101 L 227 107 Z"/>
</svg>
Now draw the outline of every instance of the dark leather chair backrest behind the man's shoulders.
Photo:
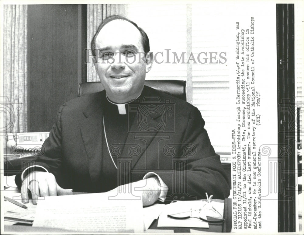
<svg viewBox="0 0 304 235">
<path fill-rule="evenodd" d="M 186 81 L 181 80 L 146 80 L 146 86 L 187 101 Z M 81 82 L 78 85 L 78 97 L 104 90 L 101 82 Z"/>
</svg>

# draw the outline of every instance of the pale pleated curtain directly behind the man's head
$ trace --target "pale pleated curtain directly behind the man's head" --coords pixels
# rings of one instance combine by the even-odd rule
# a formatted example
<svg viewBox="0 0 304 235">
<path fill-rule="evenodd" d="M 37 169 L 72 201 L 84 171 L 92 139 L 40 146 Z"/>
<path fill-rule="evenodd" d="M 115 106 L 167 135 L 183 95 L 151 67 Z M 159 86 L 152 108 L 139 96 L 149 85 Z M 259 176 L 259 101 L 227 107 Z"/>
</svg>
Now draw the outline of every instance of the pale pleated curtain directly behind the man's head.
<svg viewBox="0 0 304 235">
<path fill-rule="evenodd" d="M 126 16 L 126 4 L 88 4 L 87 5 L 87 48 L 90 48 L 91 40 L 103 19 L 112 15 Z M 99 77 L 95 72 L 92 58 L 87 64 L 87 81 L 99 81 Z"/>
</svg>

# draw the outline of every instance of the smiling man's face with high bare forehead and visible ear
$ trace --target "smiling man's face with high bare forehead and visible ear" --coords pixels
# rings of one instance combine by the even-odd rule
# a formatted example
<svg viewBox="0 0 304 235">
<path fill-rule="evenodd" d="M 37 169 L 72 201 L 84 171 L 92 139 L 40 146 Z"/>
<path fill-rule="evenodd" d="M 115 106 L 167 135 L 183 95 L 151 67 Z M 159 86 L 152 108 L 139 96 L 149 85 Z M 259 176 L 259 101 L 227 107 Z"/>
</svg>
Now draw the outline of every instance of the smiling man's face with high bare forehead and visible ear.
<svg viewBox="0 0 304 235">
<path fill-rule="evenodd" d="M 151 53 L 143 54 L 138 29 L 125 20 L 113 20 L 98 33 L 96 48 L 95 69 L 109 99 L 116 103 L 136 99 L 152 66 Z"/>
</svg>

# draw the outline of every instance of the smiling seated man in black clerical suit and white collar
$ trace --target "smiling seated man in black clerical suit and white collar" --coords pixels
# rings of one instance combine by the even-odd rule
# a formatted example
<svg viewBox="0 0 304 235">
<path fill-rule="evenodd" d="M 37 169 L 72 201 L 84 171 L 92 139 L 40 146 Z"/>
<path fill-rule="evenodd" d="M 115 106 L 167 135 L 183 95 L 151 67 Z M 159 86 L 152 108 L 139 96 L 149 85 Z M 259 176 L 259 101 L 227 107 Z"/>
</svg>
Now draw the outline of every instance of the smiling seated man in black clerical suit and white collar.
<svg viewBox="0 0 304 235">
<path fill-rule="evenodd" d="M 200 111 L 144 86 L 153 53 L 143 29 L 110 16 L 91 49 L 105 90 L 60 107 L 43 155 L 22 172 L 22 201 L 67 189 L 106 192 L 139 181 L 145 182 L 143 205 L 200 199 L 206 192 L 227 198 L 228 178 Z"/>
</svg>

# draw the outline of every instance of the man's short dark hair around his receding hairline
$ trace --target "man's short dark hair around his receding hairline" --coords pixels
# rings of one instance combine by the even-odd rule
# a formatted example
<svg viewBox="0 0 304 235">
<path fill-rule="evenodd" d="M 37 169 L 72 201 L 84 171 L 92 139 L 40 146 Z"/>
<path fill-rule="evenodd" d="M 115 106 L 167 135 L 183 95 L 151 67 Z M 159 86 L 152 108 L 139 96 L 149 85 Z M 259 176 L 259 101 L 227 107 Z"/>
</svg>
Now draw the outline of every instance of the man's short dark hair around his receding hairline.
<svg viewBox="0 0 304 235">
<path fill-rule="evenodd" d="M 91 41 L 91 50 L 92 50 L 92 52 L 93 52 L 93 50 L 98 49 L 98 48 L 95 48 L 95 46 L 96 46 L 96 37 L 97 37 L 98 33 L 100 32 L 100 30 L 107 23 L 109 23 L 109 22 L 111 22 L 113 20 L 116 20 L 116 19 L 126 20 L 126 21 L 130 22 L 131 24 L 133 24 L 138 29 L 138 31 L 140 32 L 141 37 L 142 37 L 143 51 L 147 54 L 150 51 L 150 42 L 149 42 L 149 38 L 147 36 L 147 33 L 142 28 L 138 27 L 137 24 L 134 23 L 132 20 L 127 19 L 126 17 L 123 17 L 123 16 L 117 16 L 117 15 L 109 16 L 109 17 L 105 18 L 100 23 L 100 25 L 97 28 L 96 33 L 94 34 L 94 37 L 93 37 L 92 41 Z"/>
</svg>

